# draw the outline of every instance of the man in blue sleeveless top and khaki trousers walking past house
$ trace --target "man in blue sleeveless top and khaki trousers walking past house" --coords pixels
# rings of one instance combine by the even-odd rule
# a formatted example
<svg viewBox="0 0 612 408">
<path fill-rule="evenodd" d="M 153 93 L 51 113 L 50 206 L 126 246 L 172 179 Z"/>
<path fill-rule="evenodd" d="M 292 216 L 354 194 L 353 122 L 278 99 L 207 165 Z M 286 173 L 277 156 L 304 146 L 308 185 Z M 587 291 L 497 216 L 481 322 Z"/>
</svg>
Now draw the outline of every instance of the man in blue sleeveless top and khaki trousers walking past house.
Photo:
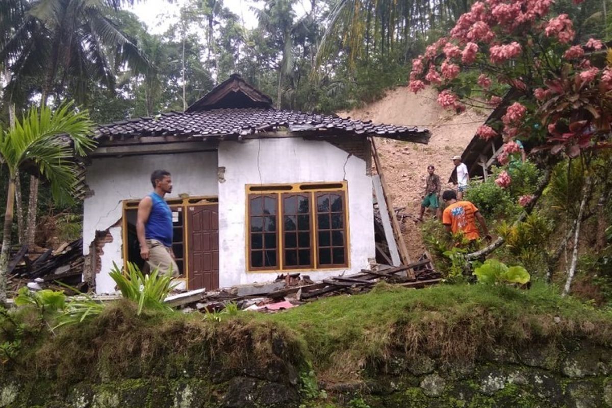
<svg viewBox="0 0 612 408">
<path fill-rule="evenodd" d="M 136 235 L 140 243 L 140 256 L 151 270 L 160 275 L 179 276 L 179 267 L 172 251 L 172 211 L 163 199 L 172 192 L 170 172 L 155 170 L 151 174 L 153 192 L 140 200 L 136 218 Z"/>
</svg>

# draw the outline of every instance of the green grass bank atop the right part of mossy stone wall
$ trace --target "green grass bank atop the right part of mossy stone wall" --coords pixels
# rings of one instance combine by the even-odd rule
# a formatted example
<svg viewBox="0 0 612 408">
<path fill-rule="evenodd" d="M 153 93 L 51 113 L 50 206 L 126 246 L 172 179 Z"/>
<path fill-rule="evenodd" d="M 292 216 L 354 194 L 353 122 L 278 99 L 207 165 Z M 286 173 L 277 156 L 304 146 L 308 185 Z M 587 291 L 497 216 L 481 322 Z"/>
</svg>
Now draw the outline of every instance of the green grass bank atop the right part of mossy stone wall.
<svg viewBox="0 0 612 408">
<path fill-rule="evenodd" d="M 317 371 L 329 379 L 353 377 L 397 352 L 408 358 L 474 360 L 496 347 L 531 341 L 612 341 L 611 313 L 563 299 L 539 283 L 529 291 L 483 284 L 419 290 L 379 284 L 368 294 L 329 297 L 255 318 L 296 332 Z"/>
</svg>

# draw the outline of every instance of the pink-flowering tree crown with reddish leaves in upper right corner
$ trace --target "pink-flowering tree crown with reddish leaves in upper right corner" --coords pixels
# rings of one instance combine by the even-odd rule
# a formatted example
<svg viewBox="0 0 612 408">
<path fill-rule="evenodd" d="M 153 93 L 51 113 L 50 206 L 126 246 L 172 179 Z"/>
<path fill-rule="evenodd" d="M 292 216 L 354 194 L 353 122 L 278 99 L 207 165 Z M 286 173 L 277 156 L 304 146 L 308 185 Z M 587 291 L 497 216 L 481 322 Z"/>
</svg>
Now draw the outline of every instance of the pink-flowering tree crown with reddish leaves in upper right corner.
<svg viewBox="0 0 612 408">
<path fill-rule="evenodd" d="M 593 57 L 603 56 L 604 46 L 597 39 L 577 43 L 572 20 L 567 14 L 552 15 L 552 3 L 475 2 L 449 36 L 412 61 L 411 91 L 434 85 L 440 90 L 441 106 L 461 110 L 465 103 L 498 106 L 504 96 L 499 90 L 504 89 L 506 111 L 501 121 L 477 130 L 481 138 L 503 135 L 509 143 L 515 138 L 529 140 L 538 146 L 535 150 L 564 152 L 572 158 L 607 146 L 612 70 L 605 58 Z M 484 99 L 455 92 L 457 77 L 468 70 L 480 73 L 477 86 Z"/>
</svg>

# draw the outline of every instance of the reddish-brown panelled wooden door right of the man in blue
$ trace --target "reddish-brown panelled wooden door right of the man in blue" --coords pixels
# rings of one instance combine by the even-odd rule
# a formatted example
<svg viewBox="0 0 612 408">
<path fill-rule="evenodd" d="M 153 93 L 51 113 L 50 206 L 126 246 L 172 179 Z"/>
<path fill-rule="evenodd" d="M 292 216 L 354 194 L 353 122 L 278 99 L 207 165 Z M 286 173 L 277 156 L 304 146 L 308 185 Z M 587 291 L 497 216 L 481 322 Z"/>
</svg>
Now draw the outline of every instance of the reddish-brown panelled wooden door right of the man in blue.
<svg viewBox="0 0 612 408">
<path fill-rule="evenodd" d="M 219 213 L 217 204 L 187 206 L 188 288 L 219 287 Z"/>
</svg>

